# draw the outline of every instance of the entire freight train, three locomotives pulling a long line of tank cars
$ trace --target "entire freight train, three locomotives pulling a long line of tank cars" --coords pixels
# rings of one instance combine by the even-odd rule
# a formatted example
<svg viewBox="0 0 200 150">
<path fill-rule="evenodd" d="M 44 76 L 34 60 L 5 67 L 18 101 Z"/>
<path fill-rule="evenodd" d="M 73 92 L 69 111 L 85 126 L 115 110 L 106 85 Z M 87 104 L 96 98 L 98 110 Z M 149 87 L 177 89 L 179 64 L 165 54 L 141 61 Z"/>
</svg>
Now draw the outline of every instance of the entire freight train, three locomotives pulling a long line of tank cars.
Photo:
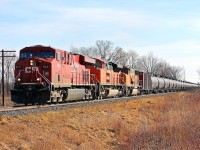
<svg viewBox="0 0 200 150">
<path fill-rule="evenodd" d="M 15 104 L 34 105 L 196 87 L 194 83 L 156 77 L 98 58 L 36 45 L 20 50 L 11 99 Z"/>
</svg>

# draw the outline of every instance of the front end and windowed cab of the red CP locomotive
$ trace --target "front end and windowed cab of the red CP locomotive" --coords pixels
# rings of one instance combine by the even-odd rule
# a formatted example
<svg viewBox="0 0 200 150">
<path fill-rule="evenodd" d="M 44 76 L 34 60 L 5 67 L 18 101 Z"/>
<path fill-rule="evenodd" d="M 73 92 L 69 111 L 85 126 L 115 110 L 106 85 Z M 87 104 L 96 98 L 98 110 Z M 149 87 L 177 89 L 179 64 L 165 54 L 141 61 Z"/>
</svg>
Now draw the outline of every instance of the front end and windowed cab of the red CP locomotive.
<svg viewBox="0 0 200 150">
<path fill-rule="evenodd" d="M 33 46 L 20 50 L 19 60 L 15 63 L 12 101 L 25 105 L 47 102 L 52 88 L 52 63 L 60 60 L 60 51 L 51 47 Z"/>
</svg>

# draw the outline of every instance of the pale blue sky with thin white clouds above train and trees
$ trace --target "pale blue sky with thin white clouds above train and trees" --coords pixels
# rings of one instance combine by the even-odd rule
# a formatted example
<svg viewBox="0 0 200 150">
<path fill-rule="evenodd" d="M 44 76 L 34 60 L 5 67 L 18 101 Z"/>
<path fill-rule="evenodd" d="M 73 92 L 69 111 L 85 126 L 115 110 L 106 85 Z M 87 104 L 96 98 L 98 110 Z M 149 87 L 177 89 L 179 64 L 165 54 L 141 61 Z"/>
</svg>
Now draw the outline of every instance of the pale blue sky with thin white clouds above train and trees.
<svg viewBox="0 0 200 150">
<path fill-rule="evenodd" d="M 0 48 L 69 50 L 111 40 L 183 66 L 186 79 L 197 82 L 199 8 L 197 0 L 0 0 Z"/>
</svg>

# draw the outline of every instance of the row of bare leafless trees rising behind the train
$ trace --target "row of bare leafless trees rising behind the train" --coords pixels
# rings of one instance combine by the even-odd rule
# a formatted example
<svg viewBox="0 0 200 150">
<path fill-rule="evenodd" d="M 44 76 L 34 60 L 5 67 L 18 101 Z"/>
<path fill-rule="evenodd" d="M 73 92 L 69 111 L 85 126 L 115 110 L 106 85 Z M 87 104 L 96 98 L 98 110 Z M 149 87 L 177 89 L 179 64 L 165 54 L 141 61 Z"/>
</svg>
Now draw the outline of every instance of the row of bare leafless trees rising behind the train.
<svg viewBox="0 0 200 150">
<path fill-rule="evenodd" d="M 71 47 L 71 52 L 129 66 L 155 76 L 184 80 L 183 67 L 171 65 L 152 52 L 140 56 L 135 50 L 125 51 L 122 47 L 114 46 L 114 43 L 109 40 L 97 40 L 95 45 L 89 47 Z"/>
</svg>

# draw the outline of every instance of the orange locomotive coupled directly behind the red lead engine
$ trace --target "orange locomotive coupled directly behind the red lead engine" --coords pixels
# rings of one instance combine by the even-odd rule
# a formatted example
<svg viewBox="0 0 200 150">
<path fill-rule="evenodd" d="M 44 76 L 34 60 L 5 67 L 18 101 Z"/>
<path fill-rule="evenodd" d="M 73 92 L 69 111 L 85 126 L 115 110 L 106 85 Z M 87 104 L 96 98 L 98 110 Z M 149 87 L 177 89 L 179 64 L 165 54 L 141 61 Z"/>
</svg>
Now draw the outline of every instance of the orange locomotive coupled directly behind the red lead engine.
<svg viewBox="0 0 200 150">
<path fill-rule="evenodd" d="M 125 81 L 121 72 L 114 72 L 112 65 L 103 60 L 95 59 L 90 73 L 97 81 L 97 98 L 116 97 L 123 94 Z"/>
</svg>

